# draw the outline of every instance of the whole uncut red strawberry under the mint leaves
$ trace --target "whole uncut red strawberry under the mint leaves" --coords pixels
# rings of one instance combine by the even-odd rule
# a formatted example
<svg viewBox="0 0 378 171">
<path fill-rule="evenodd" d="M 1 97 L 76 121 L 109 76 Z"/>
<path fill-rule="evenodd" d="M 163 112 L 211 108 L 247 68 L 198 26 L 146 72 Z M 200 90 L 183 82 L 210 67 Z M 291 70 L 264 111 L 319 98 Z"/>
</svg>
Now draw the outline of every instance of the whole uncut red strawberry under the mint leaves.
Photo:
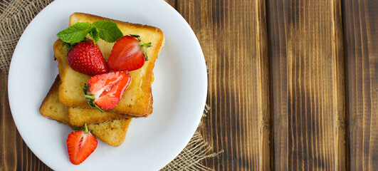
<svg viewBox="0 0 378 171">
<path fill-rule="evenodd" d="M 103 53 L 92 40 L 80 41 L 73 46 L 67 54 L 67 61 L 73 70 L 90 76 L 109 72 Z"/>
</svg>

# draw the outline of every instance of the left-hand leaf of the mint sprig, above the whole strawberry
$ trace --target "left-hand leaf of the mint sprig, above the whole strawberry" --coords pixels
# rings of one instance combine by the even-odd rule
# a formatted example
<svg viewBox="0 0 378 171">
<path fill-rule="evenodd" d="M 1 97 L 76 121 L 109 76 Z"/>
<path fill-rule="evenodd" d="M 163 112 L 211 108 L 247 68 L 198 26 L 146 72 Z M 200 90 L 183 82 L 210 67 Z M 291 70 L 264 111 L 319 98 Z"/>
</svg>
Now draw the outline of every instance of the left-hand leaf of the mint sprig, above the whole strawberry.
<svg viewBox="0 0 378 171">
<path fill-rule="evenodd" d="M 56 34 L 58 38 L 61 38 L 62 41 L 66 43 L 79 43 L 83 41 L 85 36 L 87 36 L 90 31 L 90 24 L 88 22 L 79 22 L 65 28 L 63 31 Z"/>
</svg>

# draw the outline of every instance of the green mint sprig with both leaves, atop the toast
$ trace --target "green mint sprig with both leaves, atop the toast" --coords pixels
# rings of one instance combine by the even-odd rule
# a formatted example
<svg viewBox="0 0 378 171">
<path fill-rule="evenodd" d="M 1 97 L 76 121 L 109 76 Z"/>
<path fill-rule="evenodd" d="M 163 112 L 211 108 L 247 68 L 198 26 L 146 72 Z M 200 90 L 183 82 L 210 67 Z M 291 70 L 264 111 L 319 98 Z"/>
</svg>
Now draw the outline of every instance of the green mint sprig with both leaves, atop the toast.
<svg viewBox="0 0 378 171">
<path fill-rule="evenodd" d="M 97 43 L 99 38 L 106 42 L 115 42 L 123 36 L 115 22 L 106 20 L 96 21 L 93 24 L 78 22 L 60 31 L 56 36 L 73 46 L 75 43 L 83 41 L 88 33 L 93 38 L 93 43 Z"/>
</svg>

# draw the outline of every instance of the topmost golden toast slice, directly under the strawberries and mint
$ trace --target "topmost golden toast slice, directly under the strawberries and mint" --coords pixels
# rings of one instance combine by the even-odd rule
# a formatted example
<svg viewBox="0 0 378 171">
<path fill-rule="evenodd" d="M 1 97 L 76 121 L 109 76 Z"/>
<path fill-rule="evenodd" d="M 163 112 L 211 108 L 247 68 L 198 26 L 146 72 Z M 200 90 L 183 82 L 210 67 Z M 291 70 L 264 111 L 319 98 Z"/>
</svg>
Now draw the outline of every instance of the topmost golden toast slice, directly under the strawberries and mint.
<svg viewBox="0 0 378 171">
<path fill-rule="evenodd" d="M 135 71 L 130 71 L 132 81 L 130 86 L 125 90 L 120 103 L 110 110 L 115 113 L 127 113 L 135 117 L 147 116 L 152 113 L 152 93 L 151 84 L 153 81 L 152 70 L 154 68 L 154 62 L 157 59 L 157 55 L 160 52 L 160 48 L 164 43 L 164 35 L 159 28 L 152 26 L 145 26 L 141 24 L 130 24 L 122 21 L 115 21 L 112 19 L 106 19 L 100 16 L 94 16 L 91 14 L 75 13 L 70 16 L 70 26 L 77 22 L 90 22 L 93 23 L 99 20 L 114 21 L 120 28 L 124 35 L 137 34 L 145 42 L 151 42 L 152 47 L 147 48 L 147 56 L 149 60 L 145 62 L 142 68 Z M 90 38 L 90 37 L 88 37 Z M 57 43 L 57 46 L 59 43 Z M 112 46 L 114 43 L 107 43 L 100 39 L 98 41 L 100 51 L 103 53 L 105 60 L 109 58 Z M 54 53 L 59 53 L 58 56 L 65 56 L 66 51 L 60 51 L 54 46 Z M 64 50 L 64 49 L 63 49 Z M 57 54 L 56 54 L 57 55 Z M 66 57 L 62 61 L 66 61 Z M 58 62 L 60 62 L 58 60 Z M 60 75 L 62 85 L 59 88 L 59 101 L 63 105 L 78 107 L 78 108 L 90 108 L 87 105 L 87 101 L 83 95 L 84 83 L 88 83 L 90 76 L 83 73 L 74 71 L 67 63 L 59 63 L 61 65 Z M 64 66 L 64 68 L 63 68 Z M 63 70 L 63 73 L 62 71 Z"/>
</svg>

